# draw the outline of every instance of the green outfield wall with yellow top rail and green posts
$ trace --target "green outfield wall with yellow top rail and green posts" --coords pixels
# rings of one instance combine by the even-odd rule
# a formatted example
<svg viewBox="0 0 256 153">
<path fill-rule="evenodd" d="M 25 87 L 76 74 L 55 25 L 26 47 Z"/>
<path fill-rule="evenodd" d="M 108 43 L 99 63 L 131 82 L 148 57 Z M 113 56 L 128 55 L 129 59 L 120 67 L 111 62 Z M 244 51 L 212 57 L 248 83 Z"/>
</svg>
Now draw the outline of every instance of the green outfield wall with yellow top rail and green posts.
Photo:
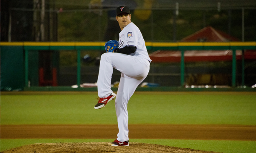
<svg viewBox="0 0 256 153">
<path fill-rule="evenodd" d="M 36 72 L 36 62 L 29 60 L 38 55 L 31 56 L 29 52 L 33 51 L 53 51 L 53 50 L 76 50 L 77 51 L 77 84 L 80 84 L 80 59 L 81 50 L 104 51 L 105 42 L 1 42 L 1 90 L 36 90 L 42 88 L 29 89 L 29 80 L 38 79 Z M 195 90 L 183 89 L 185 75 L 185 50 L 232 50 L 232 88 L 225 90 L 252 90 L 254 89 L 236 89 L 236 50 L 256 50 L 256 42 L 145 42 L 148 50 L 179 50 L 181 52 L 180 62 L 180 87 L 179 88 L 161 88 L 154 90 Z M 35 59 L 36 60 L 36 59 Z M 34 61 L 35 61 L 34 60 Z M 244 60 L 244 59 L 242 59 Z M 244 73 L 242 73 L 244 75 Z M 33 79 L 29 79 L 29 77 Z M 244 76 L 242 76 L 244 82 Z M 59 88 L 59 89 L 58 89 Z M 71 87 L 49 88 L 54 90 L 74 90 Z M 48 90 L 46 88 L 46 90 Z M 80 90 L 80 89 L 79 89 Z M 90 89 L 86 89 L 89 90 Z M 143 89 L 149 90 L 149 89 Z M 203 90 L 203 89 L 196 89 Z M 209 89 L 206 89 L 209 90 Z M 211 89 L 216 90 L 216 89 Z M 223 89 L 220 89 L 223 90 Z"/>
</svg>

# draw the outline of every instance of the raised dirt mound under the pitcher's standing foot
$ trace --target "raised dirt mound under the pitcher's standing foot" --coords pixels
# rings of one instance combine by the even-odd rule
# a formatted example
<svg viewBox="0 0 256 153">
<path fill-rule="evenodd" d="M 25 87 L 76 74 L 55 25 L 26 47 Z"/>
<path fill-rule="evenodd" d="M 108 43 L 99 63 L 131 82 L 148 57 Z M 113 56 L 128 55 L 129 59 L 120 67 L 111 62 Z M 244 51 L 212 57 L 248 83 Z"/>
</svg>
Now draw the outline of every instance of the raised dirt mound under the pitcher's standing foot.
<svg viewBox="0 0 256 153">
<path fill-rule="evenodd" d="M 110 147 L 108 142 L 29 144 L 2 153 L 215 153 L 159 144 L 131 142 L 128 147 Z"/>
</svg>

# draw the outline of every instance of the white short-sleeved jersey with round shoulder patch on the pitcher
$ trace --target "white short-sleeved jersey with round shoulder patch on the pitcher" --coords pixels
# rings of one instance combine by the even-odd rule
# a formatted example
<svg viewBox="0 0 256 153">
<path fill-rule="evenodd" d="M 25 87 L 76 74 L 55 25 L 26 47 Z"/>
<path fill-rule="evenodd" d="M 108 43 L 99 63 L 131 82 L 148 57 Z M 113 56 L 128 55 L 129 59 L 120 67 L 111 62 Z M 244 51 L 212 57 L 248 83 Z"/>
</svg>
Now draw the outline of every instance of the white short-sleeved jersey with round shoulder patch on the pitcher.
<svg viewBox="0 0 256 153">
<path fill-rule="evenodd" d="M 129 55 L 142 57 L 148 61 L 151 61 L 148 56 L 145 40 L 143 39 L 140 29 L 132 22 L 125 26 L 125 28 L 123 28 L 123 30 L 119 33 L 118 48 L 123 48 L 126 45 L 137 47 L 135 53 Z"/>
</svg>

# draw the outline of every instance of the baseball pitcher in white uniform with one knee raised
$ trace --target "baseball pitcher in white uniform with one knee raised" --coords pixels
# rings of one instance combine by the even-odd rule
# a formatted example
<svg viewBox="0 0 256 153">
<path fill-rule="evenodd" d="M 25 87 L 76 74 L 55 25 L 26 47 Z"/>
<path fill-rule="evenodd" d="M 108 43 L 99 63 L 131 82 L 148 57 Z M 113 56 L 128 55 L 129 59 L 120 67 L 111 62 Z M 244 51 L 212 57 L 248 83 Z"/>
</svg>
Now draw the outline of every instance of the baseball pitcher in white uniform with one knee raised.
<svg viewBox="0 0 256 153">
<path fill-rule="evenodd" d="M 95 109 L 105 105 L 116 97 L 116 117 L 119 133 L 109 146 L 128 146 L 128 111 L 127 104 L 137 86 L 147 77 L 151 59 L 140 29 L 131 22 L 128 6 L 116 8 L 116 21 L 121 28 L 119 41 L 110 40 L 105 44 L 107 53 L 102 54 L 98 76 L 99 101 Z M 111 90 L 113 68 L 120 71 L 121 79 L 117 94 Z"/>
</svg>

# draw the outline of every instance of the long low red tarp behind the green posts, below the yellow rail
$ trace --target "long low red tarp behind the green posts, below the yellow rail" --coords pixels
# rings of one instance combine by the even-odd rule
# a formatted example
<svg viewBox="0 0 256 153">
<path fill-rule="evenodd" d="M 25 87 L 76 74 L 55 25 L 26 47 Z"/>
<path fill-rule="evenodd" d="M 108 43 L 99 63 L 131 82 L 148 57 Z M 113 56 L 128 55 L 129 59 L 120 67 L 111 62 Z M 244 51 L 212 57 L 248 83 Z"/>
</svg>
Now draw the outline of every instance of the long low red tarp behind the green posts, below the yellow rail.
<svg viewBox="0 0 256 153">
<path fill-rule="evenodd" d="M 180 51 L 155 51 L 149 54 L 152 62 L 180 62 Z M 242 51 L 236 51 L 236 59 L 242 59 Z M 244 59 L 256 59 L 256 51 L 244 51 Z M 231 61 L 232 51 L 184 51 L 185 62 Z"/>
</svg>

